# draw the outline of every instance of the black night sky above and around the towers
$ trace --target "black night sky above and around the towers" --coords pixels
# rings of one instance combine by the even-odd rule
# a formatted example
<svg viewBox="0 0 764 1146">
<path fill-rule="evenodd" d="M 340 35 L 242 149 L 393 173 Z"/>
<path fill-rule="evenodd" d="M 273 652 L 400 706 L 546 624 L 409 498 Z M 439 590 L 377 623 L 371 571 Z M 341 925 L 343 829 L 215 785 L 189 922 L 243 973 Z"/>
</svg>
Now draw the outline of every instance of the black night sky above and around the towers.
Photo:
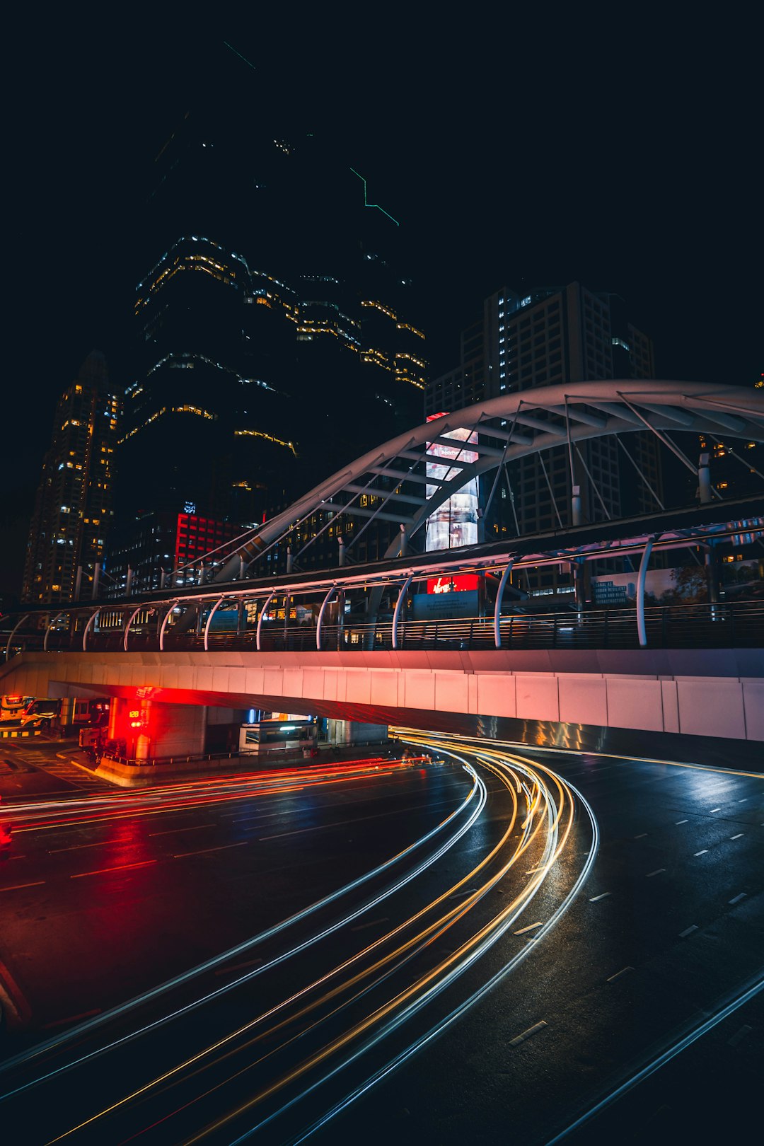
<svg viewBox="0 0 764 1146">
<path fill-rule="evenodd" d="M 427 8 L 308 17 L 292 6 L 265 18 L 258 6 L 197 23 L 186 7 L 176 21 L 129 9 L 134 23 L 124 9 L 117 26 L 66 9 L 11 29 L 0 590 L 18 587 L 56 398 L 92 348 L 118 360 L 141 173 L 234 73 L 251 80 L 243 123 L 345 141 L 370 197 L 401 221 L 438 371 L 456 364 L 459 329 L 498 286 L 577 278 L 628 301 L 659 377 L 759 376 L 754 17 L 510 3 L 449 19 Z"/>
</svg>

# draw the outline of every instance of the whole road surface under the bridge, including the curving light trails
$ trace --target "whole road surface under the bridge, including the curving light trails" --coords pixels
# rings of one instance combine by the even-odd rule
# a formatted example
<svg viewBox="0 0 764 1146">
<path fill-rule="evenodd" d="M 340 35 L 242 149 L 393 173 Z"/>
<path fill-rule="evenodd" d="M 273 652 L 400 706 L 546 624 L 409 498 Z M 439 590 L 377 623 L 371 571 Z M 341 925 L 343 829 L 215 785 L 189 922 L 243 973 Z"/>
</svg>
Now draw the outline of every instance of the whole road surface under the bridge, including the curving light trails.
<svg viewBox="0 0 764 1146">
<path fill-rule="evenodd" d="M 692 1131 L 699 1078 L 745 1107 L 763 778 L 438 744 L 6 796 L 0 1116 L 34 1143 L 533 1144 Z"/>
</svg>

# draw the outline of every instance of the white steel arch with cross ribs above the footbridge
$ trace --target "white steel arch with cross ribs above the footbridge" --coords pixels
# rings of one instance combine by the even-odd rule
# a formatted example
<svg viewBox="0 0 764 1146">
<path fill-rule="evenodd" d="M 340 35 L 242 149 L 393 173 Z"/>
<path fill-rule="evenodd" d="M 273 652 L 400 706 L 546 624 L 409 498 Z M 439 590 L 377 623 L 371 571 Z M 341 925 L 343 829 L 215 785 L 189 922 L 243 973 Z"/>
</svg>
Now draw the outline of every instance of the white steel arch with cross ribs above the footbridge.
<svg viewBox="0 0 764 1146">
<path fill-rule="evenodd" d="M 427 474 L 433 456 L 426 453 L 426 446 L 434 442 L 452 448 L 455 439 L 446 434 L 454 430 L 475 432 L 476 441 L 463 445 L 478 455 L 476 461 L 457 456 L 448 461 L 444 477 Z M 214 580 L 223 582 L 244 575 L 250 564 L 278 543 L 288 543 L 296 526 L 315 513 L 331 512 L 334 526 L 342 517 L 359 521 L 354 541 L 372 521 L 393 521 L 399 533 L 385 557 L 405 554 L 408 539 L 471 479 L 560 446 L 569 453 L 573 472 L 573 456 L 582 442 L 638 431 L 652 433 L 698 474 L 698 466 L 671 435 L 724 434 L 764 442 L 764 390 L 621 379 L 544 386 L 465 407 L 400 434 L 338 470 L 249 535 Z M 427 487 L 435 487 L 430 496 Z M 719 496 L 716 490 L 709 496 L 714 494 Z M 364 495 L 376 499 L 373 509 L 362 504 Z M 328 526 L 329 520 L 320 533 Z"/>
</svg>

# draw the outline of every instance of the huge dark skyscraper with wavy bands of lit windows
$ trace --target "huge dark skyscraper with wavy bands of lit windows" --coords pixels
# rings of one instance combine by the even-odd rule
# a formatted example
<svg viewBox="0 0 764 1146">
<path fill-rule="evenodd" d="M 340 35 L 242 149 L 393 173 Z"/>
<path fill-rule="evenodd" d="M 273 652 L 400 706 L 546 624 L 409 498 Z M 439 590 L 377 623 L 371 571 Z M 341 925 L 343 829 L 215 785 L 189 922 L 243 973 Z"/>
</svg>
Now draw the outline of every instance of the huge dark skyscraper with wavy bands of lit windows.
<svg viewBox="0 0 764 1146">
<path fill-rule="evenodd" d="M 237 532 L 420 421 L 425 344 L 400 229 L 330 142 L 250 128 L 244 146 L 241 123 L 220 115 L 173 133 L 145 209 L 118 582 L 145 515 Z M 333 563 L 326 542 L 304 564 Z M 160 575 L 143 568 L 142 587 Z"/>
</svg>

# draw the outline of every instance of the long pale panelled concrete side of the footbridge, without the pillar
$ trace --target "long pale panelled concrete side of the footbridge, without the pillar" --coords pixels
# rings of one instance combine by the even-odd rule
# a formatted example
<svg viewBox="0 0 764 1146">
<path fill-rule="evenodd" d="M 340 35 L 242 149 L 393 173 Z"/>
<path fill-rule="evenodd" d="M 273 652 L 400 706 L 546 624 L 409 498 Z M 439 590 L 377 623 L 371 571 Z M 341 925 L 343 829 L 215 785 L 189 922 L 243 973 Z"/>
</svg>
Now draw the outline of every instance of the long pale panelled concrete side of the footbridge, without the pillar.
<svg viewBox="0 0 764 1146">
<path fill-rule="evenodd" d="M 25 653 L 0 681 L 29 696 L 143 696 L 379 724 L 417 709 L 764 741 L 757 649 Z"/>
</svg>

